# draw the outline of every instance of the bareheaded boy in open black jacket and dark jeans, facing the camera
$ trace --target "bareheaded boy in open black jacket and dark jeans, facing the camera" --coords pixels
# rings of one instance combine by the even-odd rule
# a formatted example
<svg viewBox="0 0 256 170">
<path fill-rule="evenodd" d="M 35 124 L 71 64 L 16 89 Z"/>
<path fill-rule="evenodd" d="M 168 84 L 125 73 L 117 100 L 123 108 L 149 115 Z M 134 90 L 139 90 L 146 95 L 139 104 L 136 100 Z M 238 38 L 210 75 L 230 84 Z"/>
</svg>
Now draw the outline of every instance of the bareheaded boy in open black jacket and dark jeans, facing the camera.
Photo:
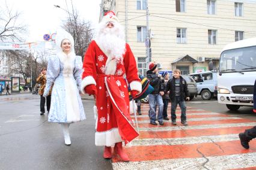
<svg viewBox="0 0 256 170">
<path fill-rule="evenodd" d="M 181 124 L 187 126 L 186 118 L 186 104 L 184 99 L 186 98 L 189 101 L 189 95 L 187 91 L 187 83 L 183 77 L 181 77 L 181 72 L 179 69 L 173 71 L 173 77 L 166 84 L 166 92 L 169 93 L 169 98 L 171 99 L 171 122 L 172 125 L 177 125 L 176 123 L 176 108 L 177 105 L 181 109 Z"/>
</svg>

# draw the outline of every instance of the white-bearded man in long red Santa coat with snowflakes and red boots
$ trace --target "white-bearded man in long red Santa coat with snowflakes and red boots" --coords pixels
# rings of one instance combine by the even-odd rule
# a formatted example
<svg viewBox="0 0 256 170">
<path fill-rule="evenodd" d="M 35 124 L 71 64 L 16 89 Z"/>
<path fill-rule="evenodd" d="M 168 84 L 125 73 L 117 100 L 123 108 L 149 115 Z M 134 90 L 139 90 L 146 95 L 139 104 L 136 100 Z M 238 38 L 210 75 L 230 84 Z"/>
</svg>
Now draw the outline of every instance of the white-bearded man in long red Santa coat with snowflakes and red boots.
<svg viewBox="0 0 256 170">
<path fill-rule="evenodd" d="M 122 141 L 127 144 L 139 136 L 130 119 L 128 86 L 132 96 L 136 96 L 141 93 L 141 80 L 135 57 L 124 41 L 123 28 L 114 12 L 106 13 L 99 23 L 96 38 L 85 53 L 83 68 L 81 91 L 96 99 L 95 144 L 105 146 L 105 159 L 112 157 L 111 146 L 115 145 L 115 153 L 127 162 L 129 157 Z"/>
</svg>

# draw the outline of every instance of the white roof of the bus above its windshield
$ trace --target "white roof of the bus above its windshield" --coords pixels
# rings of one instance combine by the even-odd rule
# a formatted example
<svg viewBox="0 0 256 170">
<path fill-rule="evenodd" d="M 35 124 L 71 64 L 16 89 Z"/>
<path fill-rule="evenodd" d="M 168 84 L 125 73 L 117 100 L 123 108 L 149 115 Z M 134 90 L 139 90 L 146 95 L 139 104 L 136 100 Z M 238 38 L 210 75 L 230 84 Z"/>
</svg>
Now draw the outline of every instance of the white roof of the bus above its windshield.
<svg viewBox="0 0 256 170">
<path fill-rule="evenodd" d="M 230 44 L 227 44 L 222 51 L 236 49 L 236 48 L 243 48 L 243 47 L 251 47 L 256 46 L 256 37 L 255 38 L 248 38 L 245 40 L 240 40 L 236 42 L 232 42 Z"/>
</svg>

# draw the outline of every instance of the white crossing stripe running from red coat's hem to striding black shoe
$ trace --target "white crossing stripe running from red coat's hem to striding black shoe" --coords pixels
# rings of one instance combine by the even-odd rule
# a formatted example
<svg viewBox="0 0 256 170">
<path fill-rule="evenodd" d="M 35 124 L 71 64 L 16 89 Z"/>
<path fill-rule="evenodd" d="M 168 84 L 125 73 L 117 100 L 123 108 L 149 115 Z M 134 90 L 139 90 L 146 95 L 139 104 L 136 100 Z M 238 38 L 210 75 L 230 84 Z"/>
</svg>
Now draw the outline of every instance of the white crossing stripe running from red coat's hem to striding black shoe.
<svg viewBox="0 0 256 170">
<path fill-rule="evenodd" d="M 186 138 L 149 138 L 135 139 L 128 144 L 128 147 L 146 146 L 146 145 L 185 145 L 185 144 L 201 144 L 207 142 L 223 142 L 239 140 L 237 134 L 230 135 L 213 135 L 213 136 L 195 136 Z"/>
</svg>

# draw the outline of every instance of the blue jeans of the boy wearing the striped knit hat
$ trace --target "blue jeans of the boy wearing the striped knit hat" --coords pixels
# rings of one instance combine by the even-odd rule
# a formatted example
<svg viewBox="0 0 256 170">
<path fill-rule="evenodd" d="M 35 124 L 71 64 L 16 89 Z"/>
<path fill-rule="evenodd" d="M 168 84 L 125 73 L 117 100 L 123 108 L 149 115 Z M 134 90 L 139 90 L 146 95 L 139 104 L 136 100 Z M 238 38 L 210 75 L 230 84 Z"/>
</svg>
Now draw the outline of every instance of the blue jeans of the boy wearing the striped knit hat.
<svg viewBox="0 0 256 170">
<path fill-rule="evenodd" d="M 163 99 L 160 94 L 158 95 L 148 95 L 148 102 L 150 105 L 150 122 L 156 121 L 156 104 L 158 105 L 158 114 L 157 114 L 157 120 L 158 122 L 163 121 Z"/>
</svg>

